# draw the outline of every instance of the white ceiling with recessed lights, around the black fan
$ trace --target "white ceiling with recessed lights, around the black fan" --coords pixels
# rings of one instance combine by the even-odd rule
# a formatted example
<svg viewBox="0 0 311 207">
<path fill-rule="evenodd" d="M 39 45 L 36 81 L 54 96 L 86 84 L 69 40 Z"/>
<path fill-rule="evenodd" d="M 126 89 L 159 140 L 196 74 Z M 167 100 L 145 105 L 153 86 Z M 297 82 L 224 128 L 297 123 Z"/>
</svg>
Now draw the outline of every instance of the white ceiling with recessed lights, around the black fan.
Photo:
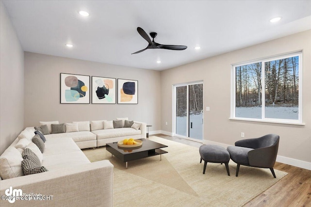
<svg viewBox="0 0 311 207">
<path fill-rule="evenodd" d="M 311 0 L 2 2 L 24 51 L 154 70 L 311 29 Z M 81 10 L 90 15 L 80 16 Z M 276 16 L 282 19 L 269 22 Z M 148 45 L 137 27 L 148 34 L 157 32 L 157 43 L 188 48 L 147 49 L 131 55 Z M 195 46 L 201 49 L 195 50 Z"/>
</svg>

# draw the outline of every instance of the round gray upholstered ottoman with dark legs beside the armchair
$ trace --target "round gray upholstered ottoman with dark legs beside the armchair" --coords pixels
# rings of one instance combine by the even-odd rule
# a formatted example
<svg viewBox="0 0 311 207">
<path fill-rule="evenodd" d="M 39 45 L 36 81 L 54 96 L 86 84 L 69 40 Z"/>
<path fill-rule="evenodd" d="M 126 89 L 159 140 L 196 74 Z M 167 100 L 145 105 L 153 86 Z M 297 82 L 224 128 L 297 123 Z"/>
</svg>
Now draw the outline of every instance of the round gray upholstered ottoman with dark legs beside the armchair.
<svg viewBox="0 0 311 207">
<path fill-rule="evenodd" d="M 225 163 L 225 168 L 227 169 L 227 173 L 230 176 L 228 165 L 230 155 L 224 147 L 214 144 L 207 144 L 200 146 L 199 152 L 201 156 L 200 163 L 202 163 L 202 159 L 204 160 L 203 174 L 205 174 L 207 162 L 213 162 L 222 164 Z"/>
</svg>

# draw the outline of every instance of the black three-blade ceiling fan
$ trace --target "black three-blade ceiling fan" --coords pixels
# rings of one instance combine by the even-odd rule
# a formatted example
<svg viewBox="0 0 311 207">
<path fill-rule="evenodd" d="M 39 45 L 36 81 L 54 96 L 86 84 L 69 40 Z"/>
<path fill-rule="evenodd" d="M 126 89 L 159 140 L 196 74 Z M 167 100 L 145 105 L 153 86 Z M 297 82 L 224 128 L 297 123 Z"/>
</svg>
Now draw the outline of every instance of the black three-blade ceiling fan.
<svg viewBox="0 0 311 207">
<path fill-rule="evenodd" d="M 140 36 L 142 36 L 145 40 L 147 40 L 147 42 L 149 43 L 147 48 L 144 48 L 142 50 L 139 50 L 137 52 L 134 52 L 132 54 L 137 54 L 139 52 L 142 52 L 146 49 L 173 49 L 173 50 L 183 50 L 186 49 L 187 46 L 182 46 L 182 45 L 161 45 L 155 42 L 155 37 L 157 35 L 156 32 L 150 32 L 150 36 L 152 37 L 152 41 L 150 39 L 150 37 L 148 36 L 148 34 L 141 29 L 140 27 L 137 28 L 137 32 L 140 34 Z"/>
</svg>

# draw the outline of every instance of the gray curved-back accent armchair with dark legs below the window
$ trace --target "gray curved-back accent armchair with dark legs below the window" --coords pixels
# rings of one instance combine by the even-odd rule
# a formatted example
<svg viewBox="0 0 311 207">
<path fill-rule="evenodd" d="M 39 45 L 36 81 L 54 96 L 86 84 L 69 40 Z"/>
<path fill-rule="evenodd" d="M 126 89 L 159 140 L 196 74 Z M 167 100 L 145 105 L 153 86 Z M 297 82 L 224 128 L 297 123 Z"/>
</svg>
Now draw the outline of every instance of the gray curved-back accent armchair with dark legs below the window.
<svg viewBox="0 0 311 207">
<path fill-rule="evenodd" d="M 276 178 L 273 167 L 276 162 L 278 143 L 278 135 L 268 134 L 259 138 L 240 140 L 235 143 L 235 146 L 228 146 L 230 158 L 238 164 L 236 176 L 239 174 L 240 165 L 245 165 L 270 168 Z"/>
</svg>

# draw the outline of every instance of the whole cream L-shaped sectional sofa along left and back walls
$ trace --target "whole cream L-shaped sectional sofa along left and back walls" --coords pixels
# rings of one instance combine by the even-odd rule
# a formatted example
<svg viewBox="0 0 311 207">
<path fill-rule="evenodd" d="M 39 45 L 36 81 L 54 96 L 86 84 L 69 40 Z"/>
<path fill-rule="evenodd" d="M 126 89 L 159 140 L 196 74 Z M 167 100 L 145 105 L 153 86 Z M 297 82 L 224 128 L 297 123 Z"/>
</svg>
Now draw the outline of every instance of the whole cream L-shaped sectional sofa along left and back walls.
<svg viewBox="0 0 311 207">
<path fill-rule="evenodd" d="M 121 120 L 125 121 L 124 118 Z M 58 121 L 52 123 L 59 125 Z M 52 123 L 41 122 L 40 124 L 49 126 L 51 133 Z M 16 207 L 111 207 L 113 165 L 109 160 L 91 163 L 81 149 L 103 146 L 129 137 L 146 138 L 146 123 L 136 121 L 134 123 L 134 127 L 111 128 L 112 121 L 86 121 L 78 122 L 76 129 L 73 127 L 76 126 L 75 124 L 69 124 L 70 132 L 44 135 L 46 142 L 43 153 L 32 142 L 35 127 L 25 128 L 0 156 L 0 195 L 7 195 L 11 188 L 15 192 L 20 189 L 26 193 L 26 196 L 30 193 L 49 198 L 41 201 L 16 200 L 14 202 Z M 40 159 L 41 166 L 44 166 L 48 172 L 24 175 L 21 167 L 24 148 L 30 148 Z M 3 198 L 0 200 L 1 207 L 12 206 Z"/>
</svg>

